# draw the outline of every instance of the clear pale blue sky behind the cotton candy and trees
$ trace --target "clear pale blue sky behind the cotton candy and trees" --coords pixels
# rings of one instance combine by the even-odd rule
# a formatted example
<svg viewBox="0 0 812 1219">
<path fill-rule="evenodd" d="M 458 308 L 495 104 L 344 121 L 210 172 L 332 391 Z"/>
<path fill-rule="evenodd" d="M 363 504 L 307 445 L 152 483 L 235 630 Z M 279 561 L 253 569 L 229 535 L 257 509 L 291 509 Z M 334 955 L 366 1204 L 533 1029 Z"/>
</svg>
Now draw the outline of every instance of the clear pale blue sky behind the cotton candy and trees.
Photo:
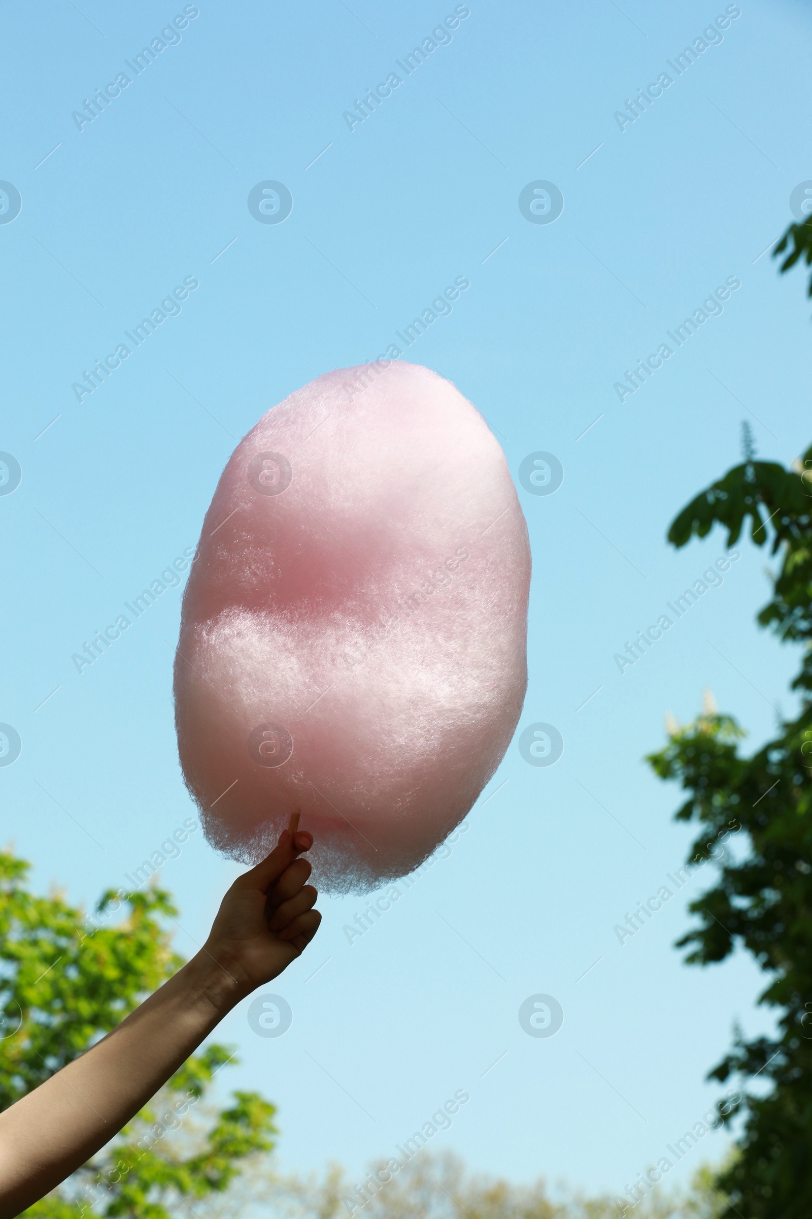
<svg viewBox="0 0 812 1219">
<path fill-rule="evenodd" d="M 642 761 L 665 713 L 688 720 L 710 686 L 755 746 L 794 707 L 795 658 L 754 623 L 767 553 L 744 544 L 643 659 L 621 673 L 614 656 L 723 555 L 718 533 L 679 553 L 665 534 L 740 460 L 740 421 L 763 457 L 812 439 L 805 279 L 765 252 L 812 178 L 808 7 L 56 0 L 38 20 L 6 0 L 0 22 L 0 450 L 22 469 L 0 496 L 0 720 L 22 741 L 0 768 L 2 836 L 37 885 L 89 904 L 192 816 L 170 689 L 179 585 L 82 673 L 72 655 L 196 545 L 264 411 L 377 356 L 467 277 L 409 358 L 452 379 L 508 456 L 533 549 L 520 733 L 553 724 L 564 752 L 530 766 L 517 734 L 450 855 L 352 944 L 365 901 L 323 900 L 315 942 L 269 987 L 291 1028 L 262 1037 L 235 1009 L 218 1035 L 242 1065 L 220 1079 L 279 1104 L 290 1168 L 358 1174 L 465 1090 L 433 1146 L 515 1180 L 622 1189 L 721 1095 L 704 1075 L 733 1022 L 769 1019 L 747 959 L 687 969 L 672 947 L 701 873 L 622 945 L 612 930 L 691 839 L 671 820 L 679 792 Z M 153 39 L 167 45 L 136 74 Z M 398 67 L 426 39 L 425 62 Z M 73 117 L 108 84 L 93 121 Z M 281 223 L 248 208 L 265 182 L 292 196 Z M 536 223 L 556 191 L 562 211 Z M 128 341 L 191 280 L 180 312 Z M 78 395 L 119 344 L 131 354 Z M 520 483 L 539 451 L 564 469 L 550 495 Z M 236 872 L 200 833 L 162 867 L 180 951 Z M 519 1022 L 538 993 L 564 1012 L 550 1037 Z M 671 1180 L 723 1150 L 709 1135 Z"/>
</svg>

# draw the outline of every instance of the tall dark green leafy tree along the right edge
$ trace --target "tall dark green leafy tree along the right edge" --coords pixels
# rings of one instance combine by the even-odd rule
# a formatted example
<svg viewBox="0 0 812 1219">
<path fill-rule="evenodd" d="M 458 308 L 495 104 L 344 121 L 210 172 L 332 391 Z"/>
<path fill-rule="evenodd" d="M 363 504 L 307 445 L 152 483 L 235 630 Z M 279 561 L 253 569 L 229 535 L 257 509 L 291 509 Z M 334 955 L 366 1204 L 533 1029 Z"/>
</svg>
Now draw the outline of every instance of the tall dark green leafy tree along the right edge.
<svg viewBox="0 0 812 1219">
<path fill-rule="evenodd" d="M 774 254 L 793 243 L 782 271 L 801 257 L 812 263 L 812 222 L 793 224 Z M 812 278 L 810 282 L 812 295 Z M 747 433 L 745 433 L 747 435 Z M 673 730 L 649 762 L 662 779 L 689 794 L 676 813 L 695 822 L 689 862 L 718 853 L 718 880 L 691 903 L 699 915 L 678 941 L 687 961 L 723 961 L 740 945 L 768 976 L 760 1003 L 777 1015 L 773 1036 L 745 1040 L 737 1030 L 729 1054 L 710 1073 L 744 1080 L 740 1102 L 723 1121 L 737 1123 L 739 1156 L 723 1171 L 726 1219 L 808 1219 L 812 1214 L 812 447 L 786 469 L 745 460 L 696 496 L 674 519 L 668 540 L 684 546 L 715 525 L 734 545 L 749 525 L 756 546 L 771 541 L 778 561 L 773 595 L 761 627 L 801 647 L 793 689 L 800 712 L 752 756 L 726 714 L 706 712 Z M 718 851 L 721 836 L 740 826 L 741 851 Z M 727 1108 L 727 1107 L 726 1107 Z"/>
</svg>

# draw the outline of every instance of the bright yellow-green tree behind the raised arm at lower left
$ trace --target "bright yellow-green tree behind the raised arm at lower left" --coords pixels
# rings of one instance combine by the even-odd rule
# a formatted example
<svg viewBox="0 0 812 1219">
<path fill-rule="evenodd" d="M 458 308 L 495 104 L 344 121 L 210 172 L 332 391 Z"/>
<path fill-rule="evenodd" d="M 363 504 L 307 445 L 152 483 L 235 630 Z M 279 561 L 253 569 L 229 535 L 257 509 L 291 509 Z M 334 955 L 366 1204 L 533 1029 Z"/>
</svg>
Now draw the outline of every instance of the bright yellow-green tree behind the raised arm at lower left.
<svg viewBox="0 0 812 1219">
<path fill-rule="evenodd" d="M 1 1108 L 82 1054 L 183 964 L 166 929 L 177 914 L 167 892 L 111 890 L 86 919 L 58 892 L 32 894 L 27 874 L 24 861 L 0 852 Z M 276 1132 L 274 1106 L 254 1092 L 235 1092 L 226 1108 L 198 1117 L 229 1062 L 219 1045 L 190 1057 L 111 1145 L 26 1214 L 167 1219 L 178 1203 L 226 1190 Z"/>
</svg>

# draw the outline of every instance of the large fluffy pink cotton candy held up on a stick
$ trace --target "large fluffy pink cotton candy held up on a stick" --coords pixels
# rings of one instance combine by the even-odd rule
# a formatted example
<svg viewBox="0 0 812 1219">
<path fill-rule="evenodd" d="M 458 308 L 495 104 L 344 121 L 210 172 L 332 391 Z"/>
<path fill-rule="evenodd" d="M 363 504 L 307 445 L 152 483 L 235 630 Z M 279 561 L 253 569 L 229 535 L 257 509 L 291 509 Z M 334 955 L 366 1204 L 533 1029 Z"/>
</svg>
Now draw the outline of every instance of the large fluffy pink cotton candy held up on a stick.
<svg viewBox="0 0 812 1219">
<path fill-rule="evenodd" d="M 528 585 L 504 455 L 450 382 L 371 364 L 268 411 L 206 514 L 175 657 L 209 842 L 257 862 L 298 808 L 327 891 L 418 867 L 513 736 Z"/>
</svg>

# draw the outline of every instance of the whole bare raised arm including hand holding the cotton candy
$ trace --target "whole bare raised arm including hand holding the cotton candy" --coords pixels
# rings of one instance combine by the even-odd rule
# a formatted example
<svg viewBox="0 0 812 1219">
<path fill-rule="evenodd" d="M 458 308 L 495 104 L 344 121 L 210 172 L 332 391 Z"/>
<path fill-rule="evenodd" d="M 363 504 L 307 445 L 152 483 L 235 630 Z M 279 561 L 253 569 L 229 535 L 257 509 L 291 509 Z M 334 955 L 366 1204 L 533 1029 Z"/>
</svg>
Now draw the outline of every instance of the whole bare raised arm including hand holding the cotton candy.
<svg viewBox="0 0 812 1219">
<path fill-rule="evenodd" d="M 166 1084 L 254 987 L 313 939 L 313 837 L 285 831 L 223 898 L 201 951 L 112 1032 L 0 1114 L 0 1219 L 11 1219 L 84 1164 Z"/>
</svg>

